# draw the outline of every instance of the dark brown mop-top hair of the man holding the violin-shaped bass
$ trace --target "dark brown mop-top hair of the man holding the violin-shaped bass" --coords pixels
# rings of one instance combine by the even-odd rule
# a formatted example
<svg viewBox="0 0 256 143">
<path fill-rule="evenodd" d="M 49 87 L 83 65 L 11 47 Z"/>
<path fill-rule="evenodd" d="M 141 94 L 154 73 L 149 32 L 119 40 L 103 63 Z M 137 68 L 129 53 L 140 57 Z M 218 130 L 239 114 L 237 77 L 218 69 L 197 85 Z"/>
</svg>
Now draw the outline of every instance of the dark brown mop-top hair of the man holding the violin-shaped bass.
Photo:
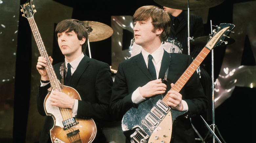
<svg viewBox="0 0 256 143">
<path fill-rule="evenodd" d="M 82 40 L 83 37 L 85 37 L 85 42 L 82 45 L 82 52 L 84 52 L 84 50 L 87 47 L 87 41 L 88 41 L 88 33 L 86 30 L 86 27 L 83 25 L 83 23 L 79 20 L 75 20 L 75 19 L 66 19 L 63 20 L 61 22 L 59 22 L 55 28 L 55 38 L 56 40 L 58 40 L 58 33 L 62 33 L 64 31 L 66 31 L 68 29 L 67 32 L 71 32 L 74 30 L 74 32 L 77 34 L 77 38 L 78 40 Z"/>
</svg>

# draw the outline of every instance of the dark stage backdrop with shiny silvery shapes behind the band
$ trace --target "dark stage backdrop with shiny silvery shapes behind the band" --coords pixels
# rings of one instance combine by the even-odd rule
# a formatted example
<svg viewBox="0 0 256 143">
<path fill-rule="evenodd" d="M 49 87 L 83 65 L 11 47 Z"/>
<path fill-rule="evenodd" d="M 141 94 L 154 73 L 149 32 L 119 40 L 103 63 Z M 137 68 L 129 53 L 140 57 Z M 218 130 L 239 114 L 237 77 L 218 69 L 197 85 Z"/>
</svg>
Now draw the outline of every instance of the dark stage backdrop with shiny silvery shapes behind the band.
<svg viewBox="0 0 256 143">
<path fill-rule="evenodd" d="M 0 142 L 6 143 L 38 142 L 44 122 L 44 117 L 36 109 L 40 75 L 35 66 L 39 52 L 28 21 L 19 12 L 20 4 L 25 2 L 0 0 Z M 159 6 L 153 0 L 33 0 L 32 4 L 37 10 L 34 19 L 48 54 L 54 59 L 53 64 L 64 60 L 54 38 L 54 28 L 61 20 L 73 18 L 113 26 L 114 17 L 129 18 L 141 6 Z M 233 30 L 235 34 L 229 35 L 235 43 L 214 49 L 215 94 L 221 97 L 215 99 L 215 124 L 228 143 L 253 142 L 255 134 L 255 6 L 256 1 L 252 0 L 225 0 L 213 8 L 190 11 L 190 14 L 203 17 L 205 36 L 211 33 L 210 20 L 212 25 L 236 25 Z M 116 34 L 115 27 L 112 28 Z M 115 70 L 118 63 L 125 60 L 125 56 L 118 55 L 127 55 L 133 38 L 132 31 L 127 29 L 119 34 L 121 44 L 113 36 L 90 43 L 92 58 L 108 63 Z M 121 45 L 121 53 L 114 53 L 116 45 Z M 211 75 L 211 53 L 206 61 L 210 63 L 206 70 Z M 106 123 L 106 126 L 108 124 L 113 123 Z M 112 143 L 121 142 L 117 135 L 111 135 L 111 129 L 106 128 L 105 131 Z M 224 142 L 217 131 L 216 134 Z"/>
</svg>

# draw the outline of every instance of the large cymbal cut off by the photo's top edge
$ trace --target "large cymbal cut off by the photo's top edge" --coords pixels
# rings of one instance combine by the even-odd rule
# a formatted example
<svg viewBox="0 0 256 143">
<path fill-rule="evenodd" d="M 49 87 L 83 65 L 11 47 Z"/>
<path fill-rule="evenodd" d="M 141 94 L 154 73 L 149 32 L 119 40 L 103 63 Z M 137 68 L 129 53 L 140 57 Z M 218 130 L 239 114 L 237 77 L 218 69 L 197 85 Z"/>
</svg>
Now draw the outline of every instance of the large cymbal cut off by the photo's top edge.
<svg viewBox="0 0 256 143">
<path fill-rule="evenodd" d="M 187 10 L 188 0 L 154 0 L 157 4 L 174 9 Z M 218 6 L 224 0 L 189 0 L 189 10 L 206 9 Z"/>
</svg>

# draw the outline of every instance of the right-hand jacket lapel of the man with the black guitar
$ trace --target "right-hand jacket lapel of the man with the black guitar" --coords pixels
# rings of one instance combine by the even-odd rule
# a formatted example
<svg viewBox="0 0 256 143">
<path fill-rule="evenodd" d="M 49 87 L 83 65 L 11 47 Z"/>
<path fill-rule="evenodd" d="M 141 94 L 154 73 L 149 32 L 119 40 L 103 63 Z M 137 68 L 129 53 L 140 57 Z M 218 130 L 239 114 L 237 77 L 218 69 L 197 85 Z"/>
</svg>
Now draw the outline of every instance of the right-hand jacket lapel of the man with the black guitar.
<svg viewBox="0 0 256 143">
<path fill-rule="evenodd" d="M 160 71 L 159 71 L 159 76 L 158 76 L 158 78 L 161 78 L 161 79 L 164 78 L 165 72 L 166 72 L 166 70 L 167 70 L 167 69 L 169 68 L 169 66 L 170 66 L 170 61 L 171 61 L 170 54 L 167 53 L 167 52 L 164 50 L 163 58 L 162 58 L 162 62 L 161 62 L 161 68 L 160 68 Z"/>
</svg>

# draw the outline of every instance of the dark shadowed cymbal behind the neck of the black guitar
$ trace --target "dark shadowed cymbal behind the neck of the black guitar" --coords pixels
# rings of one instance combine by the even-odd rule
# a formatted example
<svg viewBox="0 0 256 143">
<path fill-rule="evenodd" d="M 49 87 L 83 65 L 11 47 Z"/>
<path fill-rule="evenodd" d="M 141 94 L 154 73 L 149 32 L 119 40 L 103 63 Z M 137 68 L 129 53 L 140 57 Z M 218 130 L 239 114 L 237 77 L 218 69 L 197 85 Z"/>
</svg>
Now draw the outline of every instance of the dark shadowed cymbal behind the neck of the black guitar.
<svg viewBox="0 0 256 143">
<path fill-rule="evenodd" d="M 196 46 L 205 46 L 208 42 L 208 38 L 209 36 L 202 36 L 202 37 L 197 37 L 195 39 L 193 39 L 191 41 L 191 44 L 196 45 Z M 233 38 L 225 38 L 224 41 L 227 41 L 227 44 L 225 44 L 224 42 L 219 45 L 219 46 L 225 46 L 225 45 L 229 45 L 229 44 L 233 44 L 235 42 L 235 40 Z"/>
</svg>

